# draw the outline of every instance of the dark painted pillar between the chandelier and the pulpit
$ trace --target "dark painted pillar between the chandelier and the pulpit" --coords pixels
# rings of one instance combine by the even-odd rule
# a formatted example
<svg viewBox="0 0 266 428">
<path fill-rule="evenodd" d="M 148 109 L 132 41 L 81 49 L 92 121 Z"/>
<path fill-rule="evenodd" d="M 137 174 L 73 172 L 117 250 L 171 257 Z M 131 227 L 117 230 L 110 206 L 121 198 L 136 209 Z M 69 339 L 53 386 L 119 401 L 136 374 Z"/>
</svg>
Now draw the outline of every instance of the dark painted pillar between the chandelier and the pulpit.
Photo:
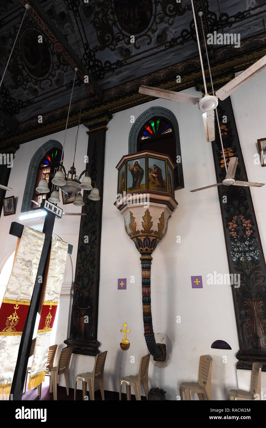
<svg viewBox="0 0 266 428">
<path fill-rule="evenodd" d="M 106 114 L 94 121 L 85 123 L 89 127 L 88 158 L 92 182 L 97 183 L 100 201 L 87 198 L 89 192 L 84 191 L 85 205 L 80 220 L 80 235 L 77 252 L 77 264 L 74 282 L 73 304 L 69 338 L 64 341 L 73 346 L 74 354 L 99 354 L 100 342 L 97 340 L 98 327 L 98 296 L 100 279 L 100 237 L 103 204 L 103 171 L 105 154 L 105 135 L 107 123 L 112 118 Z M 96 123 L 95 123 L 96 122 Z M 86 318 L 84 318 L 86 317 Z M 88 321 L 88 322 L 85 322 Z"/>
</svg>

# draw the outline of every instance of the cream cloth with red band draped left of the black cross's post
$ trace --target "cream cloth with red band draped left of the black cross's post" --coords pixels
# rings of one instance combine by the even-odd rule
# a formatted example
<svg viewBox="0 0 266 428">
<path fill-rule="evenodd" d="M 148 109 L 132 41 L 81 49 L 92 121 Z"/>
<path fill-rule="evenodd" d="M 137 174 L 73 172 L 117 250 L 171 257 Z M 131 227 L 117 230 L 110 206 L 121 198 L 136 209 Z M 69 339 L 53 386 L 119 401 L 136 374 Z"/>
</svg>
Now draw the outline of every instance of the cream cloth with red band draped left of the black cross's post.
<svg viewBox="0 0 266 428">
<path fill-rule="evenodd" d="M 38 271 L 44 233 L 24 226 L 0 308 L 0 393 L 9 394 Z"/>
</svg>

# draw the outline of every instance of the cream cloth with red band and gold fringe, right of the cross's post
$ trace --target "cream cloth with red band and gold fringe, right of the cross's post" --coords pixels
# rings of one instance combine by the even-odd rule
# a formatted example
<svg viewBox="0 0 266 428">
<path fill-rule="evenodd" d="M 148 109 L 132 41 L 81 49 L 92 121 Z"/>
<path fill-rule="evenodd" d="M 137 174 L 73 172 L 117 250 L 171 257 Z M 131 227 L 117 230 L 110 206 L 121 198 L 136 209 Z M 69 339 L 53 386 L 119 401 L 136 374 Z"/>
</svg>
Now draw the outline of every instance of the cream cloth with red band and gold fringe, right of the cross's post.
<svg viewBox="0 0 266 428">
<path fill-rule="evenodd" d="M 41 309 L 33 363 L 30 370 L 29 389 L 36 388 L 44 381 L 51 332 L 60 298 L 67 254 L 68 244 L 52 238 L 49 268 L 44 282 L 44 303 Z"/>
</svg>

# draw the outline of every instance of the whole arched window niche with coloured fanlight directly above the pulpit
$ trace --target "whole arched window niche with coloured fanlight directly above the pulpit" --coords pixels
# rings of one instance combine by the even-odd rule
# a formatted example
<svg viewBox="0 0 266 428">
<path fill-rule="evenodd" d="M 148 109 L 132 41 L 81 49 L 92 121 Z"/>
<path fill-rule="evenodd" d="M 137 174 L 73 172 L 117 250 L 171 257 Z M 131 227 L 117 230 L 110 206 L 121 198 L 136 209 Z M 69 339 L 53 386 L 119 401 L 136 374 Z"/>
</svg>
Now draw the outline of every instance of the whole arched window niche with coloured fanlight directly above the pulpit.
<svg viewBox="0 0 266 428">
<path fill-rule="evenodd" d="M 179 127 L 171 110 L 165 107 L 150 107 L 133 123 L 128 138 L 128 153 L 143 150 L 169 155 L 175 166 L 174 189 L 183 189 Z M 177 156 L 180 156 L 178 163 Z"/>
</svg>

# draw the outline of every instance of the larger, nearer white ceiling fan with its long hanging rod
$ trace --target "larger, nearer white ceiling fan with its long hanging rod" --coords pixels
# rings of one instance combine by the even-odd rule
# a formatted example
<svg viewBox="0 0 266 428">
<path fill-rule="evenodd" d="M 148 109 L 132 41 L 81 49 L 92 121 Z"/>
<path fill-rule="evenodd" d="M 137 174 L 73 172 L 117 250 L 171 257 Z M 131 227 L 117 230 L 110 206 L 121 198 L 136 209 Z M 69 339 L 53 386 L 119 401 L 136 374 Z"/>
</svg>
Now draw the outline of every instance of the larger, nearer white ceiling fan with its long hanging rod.
<svg viewBox="0 0 266 428">
<path fill-rule="evenodd" d="M 153 88 L 150 86 L 140 86 L 139 92 L 141 94 L 150 95 L 152 97 L 157 97 L 157 98 L 164 98 L 166 100 L 179 101 L 186 104 L 194 104 L 194 105 L 198 104 L 198 108 L 201 110 L 201 112 L 203 112 L 202 118 L 204 123 L 206 140 L 213 141 L 215 140 L 214 110 L 218 106 L 218 98 L 220 100 L 225 100 L 225 98 L 229 97 L 229 95 L 231 95 L 233 92 L 239 89 L 242 85 L 244 85 L 249 80 L 251 80 L 252 77 L 255 77 L 257 74 L 260 73 L 260 71 L 264 70 L 264 68 L 266 68 L 266 55 L 260 58 L 257 62 L 252 64 L 250 67 L 248 67 L 245 71 L 242 71 L 242 73 L 240 73 L 230 82 L 226 83 L 226 85 L 222 86 L 222 88 L 218 89 L 215 92 L 216 95 L 214 95 L 214 93 L 213 95 L 209 95 L 207 93 L 207 86 L 206 86 L 204 67 L 203 67 L 203 61 L 201 56 L 201 48 L 200 48 L 200 43 L 198 38 L 198 28 L 197 28 L 197 23 L 195 18 L 193 0 L 191 0 L 191 4 L 192 4 L 195 31 L 196 31 L 197 42 L 198 42 L 198 51 L 199 51 L 199 56 L 201 61 L 201 71 L 202 71 L 205 95 L 203 96 L 203 98 L 199 98 L 195 95 L 189 95 L 183 92 L 168 91 L 166 89 Z M 202 12 L 200 13 L 201 15 L 200 14 L 199 15 L 202 16 L 203 13 Z"/>
</svg>

